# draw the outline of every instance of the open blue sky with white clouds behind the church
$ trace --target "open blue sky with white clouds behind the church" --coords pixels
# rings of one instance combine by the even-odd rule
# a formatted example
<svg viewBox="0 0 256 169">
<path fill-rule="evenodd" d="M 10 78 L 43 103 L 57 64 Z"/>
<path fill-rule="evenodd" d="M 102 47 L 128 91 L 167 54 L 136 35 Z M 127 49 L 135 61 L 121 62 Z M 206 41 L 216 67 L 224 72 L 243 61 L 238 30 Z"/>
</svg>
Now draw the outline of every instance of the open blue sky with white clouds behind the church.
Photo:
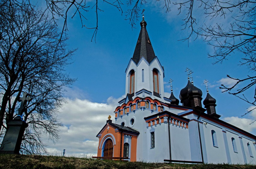
<svg viewBox="0 0 256 169">
<path fill-rule="evenodd" d="M 241 117 L 251 105 L 228 93 L 221 93 L 219 89 L 221 84 L 233 84 L 226 78 L 227 74 L 237 78 L 251 74 L 246 66 L 238 66 L 242 54 L 234 53 L 222 64 L 213 65 L 215 59 L 207 55 L 213 52 L 212 46 L 203 42 L 201 37 L 179 41 L 188 35 L 187 31 L 181 30 L 184 28 L 184 16 L 177 16 L 175 8 L 165 13 L 161 5 L 156 1 L 143 8 L 146 9 L 145 21 L 154 52 L 165 70 L 165 97 L 170 96 L 168 82 L 172 78 L 173 93 L 178 98 L 180 90 L 187 84 L 185 69 L 188 67 L 194 72 L 194 85 L 203 91 L 203 99 L 206 97 L 203 80 L 209 81 L 209 93 L 217 100 L 216 111 L 221 115 L 220 119 L 255 135 L 256 124 L 249 123 L 255 120 L 256 112 Z M 59 118 L 64 124 L 61 139 L 56 144 L 48 142 L 48 151 L 53 155 L 60 155 L 64 148 L 66 155 L 70 156 L 96 155 L 96 134 L 105 125 L 108 115 L 114 116 L 114 108 L 125 94 L 125 69 L 133 56 L 142 15 L 136 22 L 136 28 L 131 29 L 129 22 L 124 20 L 125 13 L 121 15 L 106 3 L 100 7 L 104 12 L 98 13 L 96 43 L 91 42 L 93 30 L 81 28 L 78 17 L 68 19 L 67 43 L 70 49 L 78 50 L 66 72 L 78 80 L 71 89 L 67 89 L 65 97 L 69 103 L 60 110 Z M 93 11 L 90 9 L 87 13 L 88 21 L 84 23 L 87 27 L 96 24 Z M 206 22 L 215 24 L 214 20 L 207 20 L 200 14 L 197 16 L 199 26 Z M 227 23 L 227 20 L 222 18 L 218 22 Z M 247 94 L 250 92 L 253 91 Z"/>
</svg>

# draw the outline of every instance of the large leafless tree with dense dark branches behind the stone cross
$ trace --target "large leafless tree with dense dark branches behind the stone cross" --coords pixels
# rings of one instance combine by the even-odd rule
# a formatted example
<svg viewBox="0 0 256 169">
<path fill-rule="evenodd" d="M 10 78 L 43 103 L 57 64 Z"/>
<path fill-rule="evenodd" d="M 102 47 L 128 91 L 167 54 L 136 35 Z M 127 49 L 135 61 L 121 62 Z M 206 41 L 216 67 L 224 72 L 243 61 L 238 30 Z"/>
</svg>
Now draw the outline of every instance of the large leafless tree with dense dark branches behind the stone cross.
<svg viewBox="0 0 256 169">
<path fill-rule="evenodd" d="M 75 50 L 66 49 L 67 38 L 47 13 L 21 2 L 0 2 L 0 130 L 17 115 L 18 98 L 26 91 L 32 100 L 23 115 L 29 127 L 21 153 L 46 153 L 42 137 L 59 138 L 63 87 L 75 82 L 64 72 Z"/>
</svg>

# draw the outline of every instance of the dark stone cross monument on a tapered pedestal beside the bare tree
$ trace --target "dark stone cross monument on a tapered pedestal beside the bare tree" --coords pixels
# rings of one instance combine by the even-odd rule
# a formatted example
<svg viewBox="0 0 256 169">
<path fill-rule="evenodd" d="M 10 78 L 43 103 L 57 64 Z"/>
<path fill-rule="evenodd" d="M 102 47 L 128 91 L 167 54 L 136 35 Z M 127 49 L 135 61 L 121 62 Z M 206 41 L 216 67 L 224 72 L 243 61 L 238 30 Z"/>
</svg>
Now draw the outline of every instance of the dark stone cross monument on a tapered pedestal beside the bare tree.
<svg viewBox="0 0 256 169">
<path fill-rule="evenodd" d="M 23 93 L 23 97 L 19 98 L 20 108 L 17 117 L 7 123 L 5 137 L 0 147 L 0 153 L 20 154 L 20 145 L 28 124 L 23 120 L 22 114 L 26 107 L 27 101 L 31 100 L 27 92 Z"/>
</svg>

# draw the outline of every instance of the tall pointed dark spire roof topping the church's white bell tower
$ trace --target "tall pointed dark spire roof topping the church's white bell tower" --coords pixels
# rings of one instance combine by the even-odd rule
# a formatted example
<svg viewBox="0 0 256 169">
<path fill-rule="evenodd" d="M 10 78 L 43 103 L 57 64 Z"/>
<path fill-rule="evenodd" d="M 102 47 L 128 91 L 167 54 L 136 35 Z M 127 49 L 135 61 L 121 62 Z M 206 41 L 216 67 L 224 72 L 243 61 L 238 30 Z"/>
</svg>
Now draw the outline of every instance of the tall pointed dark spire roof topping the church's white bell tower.
<svg viewBox="0 0 256 169">
<path fill-rule="evenodd" d="M 139 60 L 143 57 L 148 61 L 148 63 L 150 63 L 156 57 L 156 55 L 148 37 L 148 32 L 146 29 L 147 22 L 144 20 L 144 16 L 142 17 L 140 25 L 141 30 L 133 53 L 133 61 L 138 64 Z"/>
</svg>

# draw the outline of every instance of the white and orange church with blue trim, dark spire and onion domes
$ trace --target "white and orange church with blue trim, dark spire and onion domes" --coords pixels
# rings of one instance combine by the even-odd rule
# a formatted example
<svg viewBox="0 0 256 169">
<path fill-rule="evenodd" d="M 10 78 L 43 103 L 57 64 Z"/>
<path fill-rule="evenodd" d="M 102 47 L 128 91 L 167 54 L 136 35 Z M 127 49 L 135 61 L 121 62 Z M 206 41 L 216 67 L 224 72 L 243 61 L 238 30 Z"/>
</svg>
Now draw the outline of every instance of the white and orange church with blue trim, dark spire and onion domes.
<svg viewBox="0 0 256 169">
<path fill-rule="evenodd" d="M 126 68 L 126 97 L 97 134 L 98 157 L 147 162 L 256 164 L 256 136 L 219 119 L 216 100 L 188 82 L 164 96 L 164 69 L 146 30 Z M 204 107 L 204 108 L 203 108 Z"/>
</svg>

